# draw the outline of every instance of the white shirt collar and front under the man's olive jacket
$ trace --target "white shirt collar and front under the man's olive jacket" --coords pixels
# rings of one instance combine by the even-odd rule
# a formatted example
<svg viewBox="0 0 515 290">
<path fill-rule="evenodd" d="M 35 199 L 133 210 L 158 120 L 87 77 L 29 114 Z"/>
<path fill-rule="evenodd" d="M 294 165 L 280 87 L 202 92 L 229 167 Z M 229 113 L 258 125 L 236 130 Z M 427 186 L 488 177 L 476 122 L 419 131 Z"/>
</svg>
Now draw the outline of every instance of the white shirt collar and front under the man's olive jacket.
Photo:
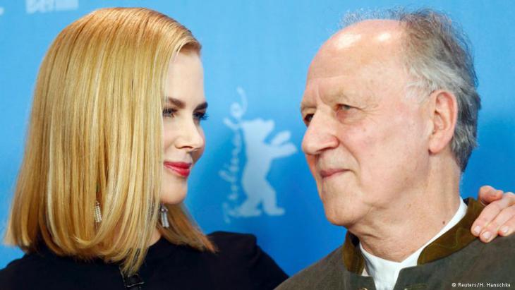
<svg viewBox="0 0 515 290">
<path fill-rule="evenodd" d="M 365 269 L 363 270 L 363 275 L 371 276 L 374 278 L 375 288 L 377 290 L 394 289 L 395 282 L 397 281 L 397 277 L 399 277 L 399 272 L 401 269 L 416 266 L 418 256 L 420 256 L 422 250 L 432 241 L 435 241 L 435 239 L 442 236 L 442 234 L 444 234 L 446 231 L 449 231 L 449 229 L 457 224 L 465 216 L 466 211 L 467 205 L 463 200 L 461 200 L 461 203 L 459 204 L 458 210 L 454 214 L 454 217 L 452 217 L 452 219 L 438 232 L 438 234 L 433 236 L 427 243 L 416 250 L 415 253 L 409 255 L 408 258 L 402 262 L 393 262 L 376 257 L 375 255 L 372 255 L 364 250 L 360 243 L 359 247 L 361 253 L 363 253 L 363 257 L 365 258 L 366 265 Z"/>
</svg>

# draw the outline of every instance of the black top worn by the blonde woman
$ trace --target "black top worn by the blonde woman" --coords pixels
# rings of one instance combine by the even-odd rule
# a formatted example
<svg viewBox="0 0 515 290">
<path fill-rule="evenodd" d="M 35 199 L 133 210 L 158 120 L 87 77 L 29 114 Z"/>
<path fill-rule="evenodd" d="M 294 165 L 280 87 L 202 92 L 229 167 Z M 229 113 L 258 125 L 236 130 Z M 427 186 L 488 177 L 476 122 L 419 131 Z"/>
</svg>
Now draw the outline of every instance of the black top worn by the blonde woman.
<svg viewBox="0 0 515 290">
<path fill-rule="evenodd" d="M 177 246 L 161 238 L 140 268 L 141 289 L 274 289 L 287 276 L 256 244 L 255 236 L 217 231 L 217 253 Z M 0 270 L 0 289 L 127 289 L 118 265 L 63 258 L 43 248 Z M 138 289 L 135 286 L 133 289 Z"/>
</svg>

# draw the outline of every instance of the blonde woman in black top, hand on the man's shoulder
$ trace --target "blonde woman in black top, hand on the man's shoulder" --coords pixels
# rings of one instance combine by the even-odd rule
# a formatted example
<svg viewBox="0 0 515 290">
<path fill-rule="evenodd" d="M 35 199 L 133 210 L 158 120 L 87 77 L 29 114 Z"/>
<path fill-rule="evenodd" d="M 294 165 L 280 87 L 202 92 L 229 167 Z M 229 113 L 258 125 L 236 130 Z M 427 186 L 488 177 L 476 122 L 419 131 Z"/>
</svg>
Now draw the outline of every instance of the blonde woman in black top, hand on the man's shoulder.
<svg viewBox="0 0 515 290">
<path fill-rule="evenodd" d="M 205 236 L 181 205 L 205 144 L 199 55 L 189 30 L 145 8 L 100 9 L 59 34 L 37 78 L 6 233 L 26 255 L 0 271 L 1 289 L 273 289 L 286 279 L 253 236 Z"/>
</svg>

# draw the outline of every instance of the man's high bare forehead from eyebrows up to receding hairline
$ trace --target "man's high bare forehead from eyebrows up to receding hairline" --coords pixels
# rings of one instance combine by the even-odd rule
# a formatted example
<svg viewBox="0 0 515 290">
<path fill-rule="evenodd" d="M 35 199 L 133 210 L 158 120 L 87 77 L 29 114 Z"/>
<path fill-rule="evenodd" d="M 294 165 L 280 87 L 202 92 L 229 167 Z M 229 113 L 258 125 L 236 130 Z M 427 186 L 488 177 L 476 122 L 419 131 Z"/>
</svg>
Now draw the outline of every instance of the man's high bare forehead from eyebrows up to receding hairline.
<svg viewBox="0 0 515 290">
<path fill-rule="evenodd" d="M 391 75 L 389 70 L 398 66 L 402 33 L 404 28 L 395 20 L 368 20 L 337 32 L 311 63 L 305 92 L 309 102 L 304 104 L 342 102 L 363 109 L 377 107 L 380 100 L 375 90 L 380 79 L 370 76 Z"/>
</svg>

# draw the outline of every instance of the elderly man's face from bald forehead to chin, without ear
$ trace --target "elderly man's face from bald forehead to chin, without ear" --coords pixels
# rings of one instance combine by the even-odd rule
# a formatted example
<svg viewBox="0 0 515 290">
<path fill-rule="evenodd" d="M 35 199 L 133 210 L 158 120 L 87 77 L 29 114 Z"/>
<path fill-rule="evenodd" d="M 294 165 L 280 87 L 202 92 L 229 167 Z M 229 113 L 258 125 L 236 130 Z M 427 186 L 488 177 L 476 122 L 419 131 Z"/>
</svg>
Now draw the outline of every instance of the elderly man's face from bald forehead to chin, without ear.
<svg viewBox="0 0 515 290">
<path fill-rule="evenodd" d="M 430 126 L 424 104 L 406 97 L 401 36 L 394 21 L 358 23 L 328 40 L 310 65 L 302 147 L 333 224 L 386 219 L 423 188 Z"/>
</svg>

